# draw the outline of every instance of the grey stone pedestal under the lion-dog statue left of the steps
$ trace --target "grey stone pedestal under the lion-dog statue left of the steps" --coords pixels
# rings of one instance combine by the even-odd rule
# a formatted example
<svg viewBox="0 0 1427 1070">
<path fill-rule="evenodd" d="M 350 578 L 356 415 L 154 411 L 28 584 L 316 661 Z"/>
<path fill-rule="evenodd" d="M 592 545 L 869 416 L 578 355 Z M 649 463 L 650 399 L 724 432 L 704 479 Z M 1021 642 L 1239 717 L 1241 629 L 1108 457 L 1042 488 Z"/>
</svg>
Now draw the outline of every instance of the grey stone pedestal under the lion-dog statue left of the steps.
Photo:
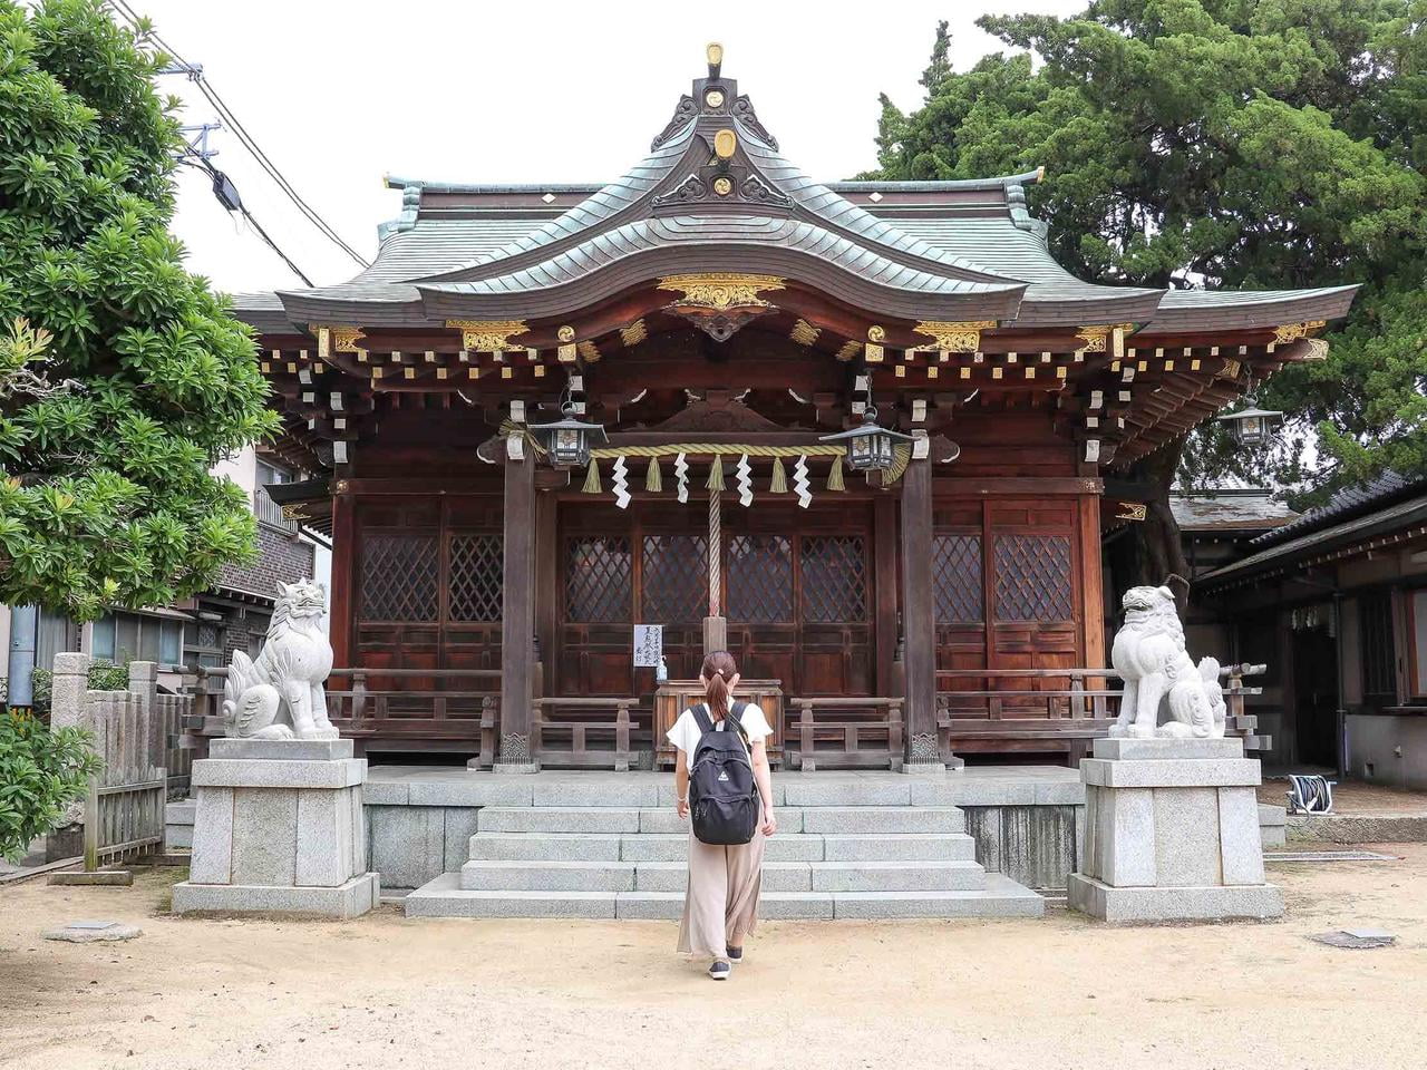
<svg viewBox="0 0 1427 1070">
<path fill-rule="evenodd" d="M 377 905 L 367 759 L 350 739 L 215 739 L 208 755 L 193 763 L 193 860 L 174 913 L 355 917 Z"/>
</svg>

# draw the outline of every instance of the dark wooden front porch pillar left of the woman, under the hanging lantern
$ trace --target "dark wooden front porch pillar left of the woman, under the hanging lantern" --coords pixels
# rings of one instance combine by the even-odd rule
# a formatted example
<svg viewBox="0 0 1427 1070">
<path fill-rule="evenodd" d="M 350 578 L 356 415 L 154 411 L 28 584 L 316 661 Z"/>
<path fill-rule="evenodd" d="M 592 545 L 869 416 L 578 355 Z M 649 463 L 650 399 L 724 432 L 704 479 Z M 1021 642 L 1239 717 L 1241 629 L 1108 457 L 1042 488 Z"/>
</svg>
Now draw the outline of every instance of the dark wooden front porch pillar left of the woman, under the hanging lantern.
<svg viewBox="0 0 1427 1070">
<path fill-rule="evenodd" d="M 534 773 L 531 696 L 535 676 L 535 458 L 505 459 L 505 552 L 501 592 L 501 748 L 498 772 Z"/>
</svg>

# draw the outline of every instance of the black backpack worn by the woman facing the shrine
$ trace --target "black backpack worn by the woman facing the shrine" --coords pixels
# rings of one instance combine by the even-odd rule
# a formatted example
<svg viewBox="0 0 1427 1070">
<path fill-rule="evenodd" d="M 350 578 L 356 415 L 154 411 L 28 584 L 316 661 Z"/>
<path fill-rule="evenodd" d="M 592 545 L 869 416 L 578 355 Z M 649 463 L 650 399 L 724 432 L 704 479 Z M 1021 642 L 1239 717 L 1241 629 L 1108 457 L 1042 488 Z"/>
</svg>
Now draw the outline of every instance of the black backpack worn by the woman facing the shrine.
<svg viewBox="0 0 1427 1070">
<path fill-rule="evenodd" d="M 726 718 L 732 728 L 722 732 L 714 728 L 708 706 L 689 709 L 702 732 L 689 766 L 689 813 L 701 843 L 748 843 L 758 829 L 758 782 L 739 719 L 746 706 L 733 705 Z"/>
</svg>

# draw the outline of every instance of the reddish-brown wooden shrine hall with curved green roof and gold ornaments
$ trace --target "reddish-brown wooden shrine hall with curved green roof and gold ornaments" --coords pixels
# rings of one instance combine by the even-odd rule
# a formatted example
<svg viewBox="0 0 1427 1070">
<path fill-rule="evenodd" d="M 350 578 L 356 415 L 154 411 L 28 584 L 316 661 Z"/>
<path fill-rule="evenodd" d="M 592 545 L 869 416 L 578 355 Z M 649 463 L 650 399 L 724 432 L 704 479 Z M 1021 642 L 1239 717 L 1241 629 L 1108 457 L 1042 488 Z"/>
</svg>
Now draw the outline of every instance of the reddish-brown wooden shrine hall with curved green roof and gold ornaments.
<svg viewBox="0 0 1427 1070">
<path fill-rule="evenodd" d="M 819 184 L 721 58 L 622 178 L 392 178 L 368 270 L 238 298 L 313 475 L 270 491 L 332 541 L 334 722 L 664 762 L 726 646 L 788 768 L 1083 753 L 1102 477 L 1321 358 L 1353 290 L 1082 282 L 1039 171 Z"/>
</svg>

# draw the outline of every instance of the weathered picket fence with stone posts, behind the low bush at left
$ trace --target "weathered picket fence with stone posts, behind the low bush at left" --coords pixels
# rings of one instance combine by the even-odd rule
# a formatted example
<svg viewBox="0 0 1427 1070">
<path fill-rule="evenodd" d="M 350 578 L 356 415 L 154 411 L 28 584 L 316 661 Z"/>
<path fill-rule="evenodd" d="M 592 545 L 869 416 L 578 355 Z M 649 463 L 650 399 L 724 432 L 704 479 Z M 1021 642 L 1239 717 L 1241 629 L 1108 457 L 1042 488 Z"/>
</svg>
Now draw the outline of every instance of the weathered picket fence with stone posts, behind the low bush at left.
<svg viewBox="0 0 1427 1070">
<path fill-rule="evenodd" d="M 90 691 L 88 669 L 87 655 L 56 655 L 50 723 L 88 730 L 104 763 L 84 802 L 84 869 L 94 870 L 163 845 L 168 725 L 186 698 L 160 698 L 153 662 L 130 663 L 128 691 Z"/>
</svg>

